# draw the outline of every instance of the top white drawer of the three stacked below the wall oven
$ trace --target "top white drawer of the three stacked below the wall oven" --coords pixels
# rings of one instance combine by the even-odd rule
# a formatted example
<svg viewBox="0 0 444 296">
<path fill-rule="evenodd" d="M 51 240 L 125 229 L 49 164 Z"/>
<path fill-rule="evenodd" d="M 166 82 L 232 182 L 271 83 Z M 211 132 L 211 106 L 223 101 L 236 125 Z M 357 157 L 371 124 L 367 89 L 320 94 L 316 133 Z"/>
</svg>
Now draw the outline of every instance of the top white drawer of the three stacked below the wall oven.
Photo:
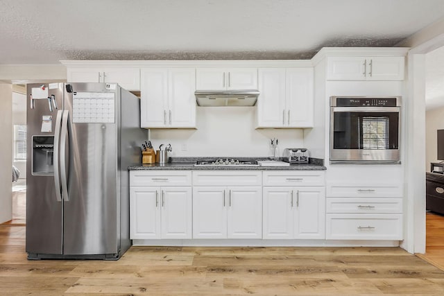
<svg viewBox="0 0 444 296">
<path fill-rule="evenodd" d="M 399 184 L 327 184 L 327 198 L 402 198 Z"/>
</svg>

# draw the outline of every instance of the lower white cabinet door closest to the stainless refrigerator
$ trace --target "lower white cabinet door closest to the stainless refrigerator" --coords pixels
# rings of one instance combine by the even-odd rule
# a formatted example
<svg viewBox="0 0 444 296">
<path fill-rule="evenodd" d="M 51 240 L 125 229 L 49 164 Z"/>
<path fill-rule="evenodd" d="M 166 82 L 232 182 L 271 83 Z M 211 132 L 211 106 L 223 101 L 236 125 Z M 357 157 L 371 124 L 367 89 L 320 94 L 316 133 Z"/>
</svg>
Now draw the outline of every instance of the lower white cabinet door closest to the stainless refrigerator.
<svg viewBox="0 0 444 296">
<path fill-rule="evenodd" d="M 160 188 L 130 187 L 130 239 L 160 238 Z"/>
</svg>

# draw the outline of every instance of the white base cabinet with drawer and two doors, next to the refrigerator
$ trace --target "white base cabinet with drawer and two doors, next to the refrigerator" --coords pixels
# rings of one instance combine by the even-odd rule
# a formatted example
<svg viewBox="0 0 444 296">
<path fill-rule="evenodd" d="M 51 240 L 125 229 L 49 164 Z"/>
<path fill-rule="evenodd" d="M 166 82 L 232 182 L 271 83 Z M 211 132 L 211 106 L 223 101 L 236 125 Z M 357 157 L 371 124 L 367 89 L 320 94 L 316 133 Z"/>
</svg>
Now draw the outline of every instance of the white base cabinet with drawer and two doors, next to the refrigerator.
<svg viewBox="0 0 444 296">
<path fill-rule="evenodd" d="M 130 171 L 130 239 L 191 238 L 191 192 L 191 172 Z"/>
</svg>

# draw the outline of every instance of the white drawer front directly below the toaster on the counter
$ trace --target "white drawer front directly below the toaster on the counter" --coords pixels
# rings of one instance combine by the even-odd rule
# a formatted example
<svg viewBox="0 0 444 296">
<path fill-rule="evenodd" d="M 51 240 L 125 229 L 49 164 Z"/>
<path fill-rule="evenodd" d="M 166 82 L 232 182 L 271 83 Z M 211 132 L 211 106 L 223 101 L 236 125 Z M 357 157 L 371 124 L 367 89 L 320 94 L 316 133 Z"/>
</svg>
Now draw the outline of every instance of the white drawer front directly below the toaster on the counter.
<svg viewBox="0 0 444 296">
<path fill-rule="evenodd" d="M 264 186 L 325 186 L 323 171 L 265 171 Z"/>
</svg>

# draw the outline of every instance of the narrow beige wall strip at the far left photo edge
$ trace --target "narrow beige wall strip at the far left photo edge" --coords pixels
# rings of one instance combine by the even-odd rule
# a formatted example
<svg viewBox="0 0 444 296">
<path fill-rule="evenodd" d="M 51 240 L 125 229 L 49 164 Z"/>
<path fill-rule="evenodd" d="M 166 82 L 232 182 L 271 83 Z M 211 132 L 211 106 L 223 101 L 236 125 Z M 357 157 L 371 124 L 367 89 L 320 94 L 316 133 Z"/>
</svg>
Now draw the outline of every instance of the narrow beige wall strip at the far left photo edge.
<svg viewBox="0 0 444 296">
<path fill-rule="evenodd" d="M 0 223 L 12 219 L 12 85 L 0 83 Z"/>
</svg>

